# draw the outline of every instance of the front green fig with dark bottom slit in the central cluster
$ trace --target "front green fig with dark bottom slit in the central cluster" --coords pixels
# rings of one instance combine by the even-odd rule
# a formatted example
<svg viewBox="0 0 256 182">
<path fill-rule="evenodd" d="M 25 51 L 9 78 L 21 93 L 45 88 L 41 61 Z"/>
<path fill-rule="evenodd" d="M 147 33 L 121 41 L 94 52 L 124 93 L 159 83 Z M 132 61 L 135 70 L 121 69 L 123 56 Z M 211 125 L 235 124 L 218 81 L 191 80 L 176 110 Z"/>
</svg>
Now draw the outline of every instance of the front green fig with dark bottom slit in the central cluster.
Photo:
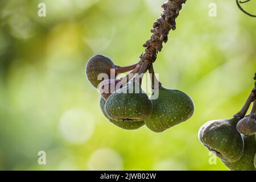
<svg viewBox="0 0 256 182">
<path fill-rule="evenodd" d="M 135 84 L 135 86 L 133 86 Z M 110 119 L 144 121 L 152 113 L 152 102 L 137 83 L 128 83 L 106 100 L 105 111 Z M 131 90 L 131 91 L 130 91 Z M 130 92 L 129 92 L 130 91 Z M 135 92 L 136 91 L 136 92 Z"/>
</svg>

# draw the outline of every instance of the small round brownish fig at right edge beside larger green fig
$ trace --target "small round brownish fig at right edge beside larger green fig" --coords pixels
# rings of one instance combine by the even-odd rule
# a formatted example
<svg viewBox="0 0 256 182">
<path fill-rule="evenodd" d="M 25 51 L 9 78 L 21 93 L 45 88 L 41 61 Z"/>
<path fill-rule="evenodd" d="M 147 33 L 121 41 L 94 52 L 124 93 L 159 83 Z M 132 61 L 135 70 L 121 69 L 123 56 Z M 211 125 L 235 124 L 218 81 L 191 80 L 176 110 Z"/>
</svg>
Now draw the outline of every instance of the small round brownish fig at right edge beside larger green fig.
<svg viewBox="0 0 256 182">
<path fill-rule="evenodd" d="M 247 115 L 237 123 L 237 131 L 243 135 L 254 135 L 256 133 L 255 114 Z"/>
</svg>

